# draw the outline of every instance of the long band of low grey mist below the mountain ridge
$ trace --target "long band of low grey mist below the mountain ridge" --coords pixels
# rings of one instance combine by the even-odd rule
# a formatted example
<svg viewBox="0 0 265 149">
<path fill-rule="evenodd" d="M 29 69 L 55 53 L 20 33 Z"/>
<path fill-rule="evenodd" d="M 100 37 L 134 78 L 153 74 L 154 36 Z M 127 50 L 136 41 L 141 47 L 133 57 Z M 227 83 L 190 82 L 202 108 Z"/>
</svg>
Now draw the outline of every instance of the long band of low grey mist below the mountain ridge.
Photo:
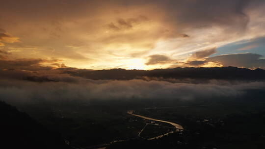
<svg viewBox="0 0 265 149">
<path fill-rule="evenodd" d="M 89 80 L 72 78 L 73 82 L 29 82 L 0 80 L 0 98 L 7 102 L 61 100 L 193 100 L 239 97 L 249 89 L 264 89 L 264 82 L 170 83 L 144 80 Z M 64 79 L 65 80 L 65 79 Z M 78 81 L 77 81 L 78 80 Z"/>
</svg>

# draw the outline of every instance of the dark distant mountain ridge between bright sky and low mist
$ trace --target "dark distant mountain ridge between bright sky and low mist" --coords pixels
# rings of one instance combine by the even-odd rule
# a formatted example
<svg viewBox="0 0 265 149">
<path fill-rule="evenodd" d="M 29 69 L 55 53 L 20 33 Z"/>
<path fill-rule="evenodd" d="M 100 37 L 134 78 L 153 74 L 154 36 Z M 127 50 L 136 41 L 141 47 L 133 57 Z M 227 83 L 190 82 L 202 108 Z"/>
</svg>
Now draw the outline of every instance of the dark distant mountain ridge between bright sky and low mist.
<svg viewBox="0 0 265 149">
<path fill-rule="evenodd" d="M 80 76 L 88 79 L 118 79 L 128 80 L 137 79 L 139 77 L 163 77 L 163 78 L 194 78 L 194 79 L 250 79 L 261 80 L 265 79 L 265 70 L 255 69 L 250 70 L 238 67 L 186 67 L 173 69 L 155 69 L 150 71 L 145 70 L 125 70 L 125 69 L 110 69 L 110 70 L 63 70 L 74 76 Z"/>
</svg>

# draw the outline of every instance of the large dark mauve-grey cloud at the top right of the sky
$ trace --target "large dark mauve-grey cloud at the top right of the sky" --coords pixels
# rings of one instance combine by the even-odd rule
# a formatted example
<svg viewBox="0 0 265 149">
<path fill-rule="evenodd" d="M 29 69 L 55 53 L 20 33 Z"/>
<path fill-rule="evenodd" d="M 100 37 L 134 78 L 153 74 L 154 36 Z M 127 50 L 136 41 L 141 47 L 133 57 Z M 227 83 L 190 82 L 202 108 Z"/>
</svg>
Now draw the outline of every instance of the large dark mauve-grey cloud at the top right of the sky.
<svg viewBox="0 0 265 149">
<path fill-rule="evenodd" d="M 245 8 L 262 0 L 166 0 L 164 6 L 181 25 L 204 27 L 229 26 L 228 30 L 245 29 L 249 17 Z M 232 28 L 231 28 L 232 27 Z"/>
</svg>

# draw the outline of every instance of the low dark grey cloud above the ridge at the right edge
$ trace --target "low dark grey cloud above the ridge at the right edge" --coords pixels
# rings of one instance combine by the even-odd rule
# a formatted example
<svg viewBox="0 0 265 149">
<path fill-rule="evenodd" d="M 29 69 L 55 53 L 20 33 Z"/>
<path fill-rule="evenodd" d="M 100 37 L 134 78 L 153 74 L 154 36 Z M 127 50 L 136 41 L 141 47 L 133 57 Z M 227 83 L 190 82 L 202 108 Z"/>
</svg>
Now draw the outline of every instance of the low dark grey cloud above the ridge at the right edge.
<svg viewBox="0 0 265 149">
<path fill-rule="evenodd" d="M 254 53 L 238 53 L 209 57 L 206 60 L 210 62 L 218 62 L 223 66 L 235 66 L 246 68 L 263 68 L 265 69 L 265 59 L 263 55 Z"/>
</svg>

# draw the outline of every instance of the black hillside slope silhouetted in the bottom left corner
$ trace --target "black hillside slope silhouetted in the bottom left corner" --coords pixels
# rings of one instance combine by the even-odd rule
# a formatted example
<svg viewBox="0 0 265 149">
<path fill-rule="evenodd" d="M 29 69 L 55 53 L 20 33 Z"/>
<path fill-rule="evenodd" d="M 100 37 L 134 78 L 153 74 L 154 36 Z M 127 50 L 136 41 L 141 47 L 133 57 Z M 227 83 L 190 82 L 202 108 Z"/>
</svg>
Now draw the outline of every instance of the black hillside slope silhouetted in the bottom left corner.
<svg viewBox="0 0 265 149">
<path fill-rule="evenodd" d="M 0 119 L 2 149 L 70 149 L 59 134 L 2 101 Z"/>
</svg>

